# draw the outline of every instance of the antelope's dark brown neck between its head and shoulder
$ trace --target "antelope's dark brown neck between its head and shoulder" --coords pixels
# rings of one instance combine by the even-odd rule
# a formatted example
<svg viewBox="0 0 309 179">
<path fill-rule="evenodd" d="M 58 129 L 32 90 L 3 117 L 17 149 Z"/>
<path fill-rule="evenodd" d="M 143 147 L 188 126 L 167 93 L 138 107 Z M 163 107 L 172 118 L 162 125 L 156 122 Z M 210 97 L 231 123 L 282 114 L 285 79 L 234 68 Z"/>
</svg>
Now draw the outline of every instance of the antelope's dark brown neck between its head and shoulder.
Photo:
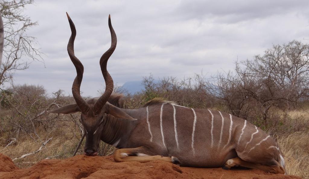
<svg viewBox="0 0 309 179">
<path fill-rule="evenodd" d="M 134 110 L 121 110 L 125 111 L 134 118 Z M 108 118 L 101 133 L 101 140 L 107 144 L 113 145 L 116 148 L 125 148 L 126 141 L 128 141 L 131 131 L 135 125 L 135 121 L 114 117 Z"/>
</svg>

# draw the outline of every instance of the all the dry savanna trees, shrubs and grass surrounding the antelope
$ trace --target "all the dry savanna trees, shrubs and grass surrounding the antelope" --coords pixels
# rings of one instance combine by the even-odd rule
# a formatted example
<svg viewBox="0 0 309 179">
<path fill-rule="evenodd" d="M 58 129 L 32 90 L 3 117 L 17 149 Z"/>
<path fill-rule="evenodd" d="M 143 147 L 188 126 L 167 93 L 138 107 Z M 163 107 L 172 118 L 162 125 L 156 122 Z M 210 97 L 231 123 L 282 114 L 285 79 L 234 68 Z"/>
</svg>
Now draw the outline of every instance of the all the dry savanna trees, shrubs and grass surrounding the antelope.
<svg viewBox="0 0 309 179">
<path fill-rule="evenodd" d="M 28 68 L 24 59 L 41 61 L 35 38 L 25 33 L 36 23 L 22 14 L 23 6 L 32 1 L 0 3 L 6 29 L 0 69 L 0 153 L 11 157 L 20 168 L 45 158 L 70 157 L 84 134 L 79 114 L 48 111 L 74 103 L 74 99 L 61 90 L 48 94 L 43 86 L 9 83 L 15 70 Z M 236 61 L 234 70 L 212 76 L 201 73 L 157 80 L 150 75 L 142 84 L 145 89 L 136 94 L 127 94 L 121 88 L 114 92 L 124 93 L 127 108 L 141 107 L 159 97 L 181 106 L 220 110 L 246 119 L 277 140 L 289 174 L 308 178 L 308 44 L 293 40 L 273 45 L 264 54 Z M 83 153 L 82 148 L 83 144 L 77 154 Z M 99 155 L 110 155 L 114 150 L 101 142 Z"/>
</svg>

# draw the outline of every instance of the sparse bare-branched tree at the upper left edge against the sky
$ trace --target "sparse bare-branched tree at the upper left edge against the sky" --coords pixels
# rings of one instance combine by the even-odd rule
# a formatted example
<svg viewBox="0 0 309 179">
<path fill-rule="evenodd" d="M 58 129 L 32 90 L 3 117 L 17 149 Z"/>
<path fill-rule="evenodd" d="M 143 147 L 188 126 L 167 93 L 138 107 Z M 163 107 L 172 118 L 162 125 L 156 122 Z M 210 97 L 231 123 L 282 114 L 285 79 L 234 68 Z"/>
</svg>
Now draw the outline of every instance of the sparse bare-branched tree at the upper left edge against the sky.
<svg viewBox="0 0 309 179">
<path fill-rule="evenodd" d="M 0 14 L 3 18 L 4 48 L 2 65 L 0 65 L 0 87 L 11 81 L 16 70 L 29 68 L 29 60 L 42 61 L 41 52 L 36 48 L 36 38 L 27 35 L 29 27 L 36 22 L 23 14 L 26 5 L 32 0 L 3 1 L 0 0 Z"/>
</svg>

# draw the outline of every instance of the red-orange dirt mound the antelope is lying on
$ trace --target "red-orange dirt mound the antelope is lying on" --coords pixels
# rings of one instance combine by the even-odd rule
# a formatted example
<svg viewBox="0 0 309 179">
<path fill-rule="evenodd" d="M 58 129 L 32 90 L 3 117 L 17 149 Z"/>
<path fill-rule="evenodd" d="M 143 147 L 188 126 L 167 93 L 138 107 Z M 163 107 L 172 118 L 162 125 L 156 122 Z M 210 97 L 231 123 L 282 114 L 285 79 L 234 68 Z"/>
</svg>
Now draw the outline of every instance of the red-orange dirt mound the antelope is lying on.
<svg viewBox="0 0 309 179">
<path fill-rule="evenodd" d="M 0 155 L 4 156 L 4 155 Z M 6 156 L 0 157 L 12 164 Z M 0 163 L 1 164 L 1 163 Z M 4 171 L 0 165 L 0 171 Z M 6 167 L 6 166 L 4 166 Z M 152 161 L 148 163 L 116 163 L 112 156 L 74 156 L 64 160 L 41 160 L 28 169 L 0 172 L 0 178 L 253 178 L 253 179 L 299 179 L 296 176 L 270 174 L 260 170 L 202 169 Z"/>
</svg>

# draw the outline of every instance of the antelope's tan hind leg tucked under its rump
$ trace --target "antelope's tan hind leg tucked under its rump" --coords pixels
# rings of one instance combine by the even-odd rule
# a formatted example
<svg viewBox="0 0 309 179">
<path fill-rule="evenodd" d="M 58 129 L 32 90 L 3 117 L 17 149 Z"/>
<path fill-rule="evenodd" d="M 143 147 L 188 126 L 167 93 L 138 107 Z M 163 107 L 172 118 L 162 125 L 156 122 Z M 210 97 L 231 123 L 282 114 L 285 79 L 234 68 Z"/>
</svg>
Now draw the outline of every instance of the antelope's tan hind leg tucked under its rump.
<svg viewBox="0 0 309 179">
<path fill-rule="evenodd" d="M 269 173 L 281 173 L 284 174 L 284 169 L 280 166 L 280 164 L 278 163 L 277 166 L 267 166 L 267 165 L 261 165 L 261 164 L 254 164 L 251 162 L 247 162 L 242 160 L 239 157 L 227 160 L 225 165 L 222 167 L 222 169 L 231 169 L 231 167 L 247 167 L 250 169 L 260 169 L 263 170 L 265 172 L 269 172 Z"/>
</svg>

